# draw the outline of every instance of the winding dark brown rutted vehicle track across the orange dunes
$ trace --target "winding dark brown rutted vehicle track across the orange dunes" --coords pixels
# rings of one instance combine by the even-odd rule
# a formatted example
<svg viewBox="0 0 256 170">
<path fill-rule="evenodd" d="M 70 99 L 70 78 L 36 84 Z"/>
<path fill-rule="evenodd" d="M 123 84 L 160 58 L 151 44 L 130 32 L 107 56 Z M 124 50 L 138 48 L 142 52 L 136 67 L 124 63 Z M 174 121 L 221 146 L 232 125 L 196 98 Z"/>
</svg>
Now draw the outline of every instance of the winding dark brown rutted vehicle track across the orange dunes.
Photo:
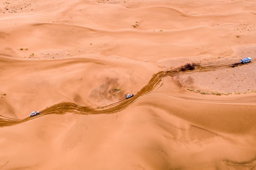
<svg viewBox="0 0 256 170">
<path fill-rule="evenodd" d="M 256 58 L 254 58 L 255 60 Z M 252 60 L 252 63 L 255 61 Z M 177 67 L 173 70 L 169 71 L 160 71 L 152 76 L 150 81 L 146 86 L 144 86 L 140 91 L 137 92 L 134 97 L 130 98 L 129 100 L 121 100 L 114 104 L 110 104 L 108 106 L 104 106 L 102 108 L 94 108 L 90 106 L 79 106 L 72 102 L 62 102 L 59 104 L 55 104 L 53 106 L 47 107 L 46 109 L 40 111 L 40 115 L 34 117 L 27 117 L 25 119 L 13 119 L 9 117 L 5 117 L 0 115 L 0 127 L 16 125 L 19 123 L 23 123 L 44 115 L 48 114 L 65 114 L 65 113 L 73 113 L 73 114 L 80 114 L 80 115 L 91 115 L 91 114 L 112 114 L 119 111 L 126 109 L 126 107 L 130 106 L 134 103 L 138 98 L 141 96 L 148 94 L 160 86 L 160 82 L 163 81 L 163 78 L 167 76 L 179 76 L 183 74 L 190 74 L 195 72 L 209 72 L 214 70 L 226 69 L 230 67 L 235 67 L 239 65 L 243 65 L 242 63 L 234 63 L 237 60 L 226 60 L 226 61 L 214 61 L 209 63 L 198 63 L 198 64 L 186 64 L 184 66 Z"/>
</svg>

